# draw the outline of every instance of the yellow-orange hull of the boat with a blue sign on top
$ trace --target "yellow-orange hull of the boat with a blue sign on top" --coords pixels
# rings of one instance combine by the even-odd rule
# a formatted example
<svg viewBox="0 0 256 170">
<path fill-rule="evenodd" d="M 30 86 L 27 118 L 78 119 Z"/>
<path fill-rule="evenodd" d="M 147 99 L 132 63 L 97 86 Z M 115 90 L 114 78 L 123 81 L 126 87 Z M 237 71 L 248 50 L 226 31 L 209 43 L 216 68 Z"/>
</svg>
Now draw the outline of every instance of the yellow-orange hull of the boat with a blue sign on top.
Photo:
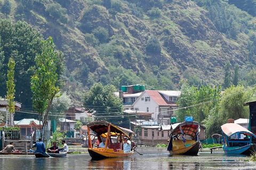
<svg viewBox="0 0 256 170">
<path fill-rule="evenodd" d="M 199 141 L 189 141 L 187 146 L 186 144 L 181 143 L 182 141 L 179 140 L 175 143 L 175 140 L 173 141 L 173 148 L 170 152 L 170 155 L 197 155 L 199 148 L 200 148 L 200 142 Z M 178 144 L 178 145 L 177 145 Z"/>
</svg>

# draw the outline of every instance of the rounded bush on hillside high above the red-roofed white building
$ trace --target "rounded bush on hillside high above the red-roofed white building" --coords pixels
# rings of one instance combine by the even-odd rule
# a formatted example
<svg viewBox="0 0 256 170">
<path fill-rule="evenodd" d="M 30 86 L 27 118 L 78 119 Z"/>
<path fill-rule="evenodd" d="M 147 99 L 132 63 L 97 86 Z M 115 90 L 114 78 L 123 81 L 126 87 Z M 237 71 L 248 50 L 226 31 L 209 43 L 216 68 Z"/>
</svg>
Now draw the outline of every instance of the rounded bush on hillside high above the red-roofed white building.
<svg viewBox="0 0 256 170">
<path fill-rule="evenodd" d="M 147 41 L 146 52 L 151 55 L 161 53 L 161 44 L 156 37 L 151 37 Z"/>
</svg>

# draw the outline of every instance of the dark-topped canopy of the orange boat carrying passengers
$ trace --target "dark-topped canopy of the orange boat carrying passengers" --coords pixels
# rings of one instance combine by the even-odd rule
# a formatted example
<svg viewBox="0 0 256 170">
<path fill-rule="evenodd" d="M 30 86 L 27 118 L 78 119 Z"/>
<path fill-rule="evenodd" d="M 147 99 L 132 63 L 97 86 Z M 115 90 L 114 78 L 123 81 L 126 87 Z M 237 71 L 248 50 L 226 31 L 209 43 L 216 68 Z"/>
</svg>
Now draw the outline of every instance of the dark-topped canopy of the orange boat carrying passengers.
<svg viewBox="0 0 256 170">
<path fill-rule="evenodd" d="M 124 134 L 130 139 L 129 133 L 134 133 L 130 129 L 121 128 L 106 121 L 94 121 L 88 123 L 87 127 L 96 132 L 98 135 L 101 135 L 103 138 L 106 138 L 108 133 L 108 125 L 110 125 L 110 136 Z"/>
</svg>

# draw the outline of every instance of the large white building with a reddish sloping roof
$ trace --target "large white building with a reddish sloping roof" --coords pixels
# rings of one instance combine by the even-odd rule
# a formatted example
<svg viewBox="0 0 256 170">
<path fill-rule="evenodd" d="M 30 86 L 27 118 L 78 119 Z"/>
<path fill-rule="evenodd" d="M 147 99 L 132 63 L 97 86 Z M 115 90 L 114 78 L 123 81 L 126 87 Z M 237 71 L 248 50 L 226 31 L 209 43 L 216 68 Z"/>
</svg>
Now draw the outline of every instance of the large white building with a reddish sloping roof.
<svg viewBox="0 0 256 170">
<path fill-rule="evenodd" d="M 153 112 L 152 119 L 160 120 L 162 124 L 170 124 L 173 109 L 177 108 L 176 101 L 180 91 L 173 90 L 145 90 L 132 104 L 135 111 Z"/>
</svg>

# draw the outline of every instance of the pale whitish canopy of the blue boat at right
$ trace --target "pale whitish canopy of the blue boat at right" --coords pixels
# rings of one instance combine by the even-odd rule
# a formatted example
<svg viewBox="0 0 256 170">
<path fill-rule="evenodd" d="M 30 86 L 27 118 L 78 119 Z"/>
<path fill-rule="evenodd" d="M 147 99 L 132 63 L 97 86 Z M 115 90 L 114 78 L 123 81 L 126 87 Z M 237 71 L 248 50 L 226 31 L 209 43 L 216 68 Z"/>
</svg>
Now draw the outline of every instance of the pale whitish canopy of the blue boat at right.
<svg viewBox="0 0 256 170">
<path fill-rule="evenodd" d="M 226 134 L 228 137 L 230 137 L 232 134 L 235 133 L 244 133 L 246 135 L 253 136 L 256 138 L 256 135 L 253 134 L 251 131 L 245 129 L 243 126 L 236 124 L 236 123 L 226 123 L 221 126 L 221 130 L 224 134 Z"/>
</svg>

